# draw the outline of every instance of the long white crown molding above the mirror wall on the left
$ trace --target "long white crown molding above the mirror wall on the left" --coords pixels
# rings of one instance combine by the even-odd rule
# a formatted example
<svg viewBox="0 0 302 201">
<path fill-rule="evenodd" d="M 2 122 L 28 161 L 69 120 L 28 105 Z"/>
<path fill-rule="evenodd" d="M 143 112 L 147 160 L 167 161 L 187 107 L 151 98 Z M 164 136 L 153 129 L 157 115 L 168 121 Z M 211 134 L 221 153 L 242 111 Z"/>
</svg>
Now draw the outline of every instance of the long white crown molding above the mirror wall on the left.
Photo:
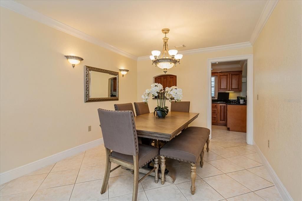
<svg viewBox="0 0 302 201">
<path fill-rule="evenodd" d="M 16 13 L 19 13 L 19 14 L 22 14 L 28 18 L 31 18 L 35 21 L 38 21 L 42 24 L 45 24 L 47 26 L 50 26 L 50 27 L 53 27 L 57 30 L 60 30 L 60 31 L 63 31 L 67 34 L 70 34 L 72 36 L 75 36 L 75 37 L 78 37 L 82 40 L 85 40 L 87 42 L 90 42 L 90 43 L 93 43 L 93 44 L 96 44 L 98 46 L 101 46 L 101 47 L 104 47 L 114 53 L 117 53 L 117 54 L 120 54 L 122 56 L 125 56 L 125 57 L 128 57 L 130 59 L 133 59 L 133 60 L 137 60 L 137 56 L 134 56 L 130 53 L 127 53 L 121 49 L 118 49 L 112 45 L 109 45 L 108 43 L 105 43 L 101 40 L 98 40 L 96 39 L 95 37 L 92 37 L 88 34 L 85 34 L 75 28 L 72 28 L 66 24 L 63 24 L 59 21 L 56 21 L 52 18 L 49 18 L 47 17 L 46 15 L 43 15 L 31 8 L 28 8 L 22 4 L 19 4 L 17 2 L 14 2 L 14 1 L 7 1 L 7 0 L 1 0 L 0 1 L 0 6 L 3 7 L 3 8 L 8 8 Z"/>
</svg>

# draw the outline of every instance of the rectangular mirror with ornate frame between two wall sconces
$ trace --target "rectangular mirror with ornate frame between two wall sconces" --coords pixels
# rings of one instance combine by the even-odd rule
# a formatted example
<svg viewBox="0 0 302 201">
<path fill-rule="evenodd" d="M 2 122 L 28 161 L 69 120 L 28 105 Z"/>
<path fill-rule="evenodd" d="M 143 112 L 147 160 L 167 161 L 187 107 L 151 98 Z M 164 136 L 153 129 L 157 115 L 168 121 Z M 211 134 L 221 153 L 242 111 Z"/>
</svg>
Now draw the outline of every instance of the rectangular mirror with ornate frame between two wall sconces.
<svg viewBox="0 0 302 201">
<path fill-rule="evenodd" d="M 118 72 L 84 67 L 85 102 L 118 101 Z"/>
</svg>

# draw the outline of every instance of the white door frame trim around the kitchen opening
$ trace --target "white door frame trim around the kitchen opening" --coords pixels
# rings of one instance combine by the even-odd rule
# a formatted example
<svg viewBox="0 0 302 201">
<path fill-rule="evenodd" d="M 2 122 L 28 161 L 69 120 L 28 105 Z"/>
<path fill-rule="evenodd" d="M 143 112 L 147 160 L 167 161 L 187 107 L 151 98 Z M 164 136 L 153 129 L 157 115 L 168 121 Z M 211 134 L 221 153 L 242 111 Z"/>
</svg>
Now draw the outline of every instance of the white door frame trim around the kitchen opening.
<svg viewBox="0 0 302 201">
<path fill-rule="evenodd" d="M 210 129 L 210 139 L 212 139 L 212 95 L 211 95 L 211 64 L 214 62 L 226 62 L 236 60 L 247 60 L 247 115 L 246 115 L 246 142 L 253 144 L 253 55 L 226 56 L 207 59 L 208 67 L 208 105 L 207 105 L 207 127 Z"/>
</svg>

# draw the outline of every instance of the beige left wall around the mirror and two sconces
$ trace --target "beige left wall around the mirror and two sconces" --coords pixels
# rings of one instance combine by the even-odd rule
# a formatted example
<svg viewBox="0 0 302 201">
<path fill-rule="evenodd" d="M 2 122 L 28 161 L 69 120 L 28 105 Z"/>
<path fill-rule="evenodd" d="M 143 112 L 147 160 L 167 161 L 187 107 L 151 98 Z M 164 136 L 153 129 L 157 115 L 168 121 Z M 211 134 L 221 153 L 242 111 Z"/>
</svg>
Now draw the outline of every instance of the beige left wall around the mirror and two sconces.
<svg viewBox="0 0 302 201">
<path fill-rule="evenodd" d="M 137 61 L 5 8 L 0 13 L 1 173 L 101 138 L 97 108 L 137 100 Z M 70 54 L 84 61 L 73 69 L 64 57 Z M 129 69 L 120 76 L 120 100 L 84 103 L 84 65 Z"/>
</svg>

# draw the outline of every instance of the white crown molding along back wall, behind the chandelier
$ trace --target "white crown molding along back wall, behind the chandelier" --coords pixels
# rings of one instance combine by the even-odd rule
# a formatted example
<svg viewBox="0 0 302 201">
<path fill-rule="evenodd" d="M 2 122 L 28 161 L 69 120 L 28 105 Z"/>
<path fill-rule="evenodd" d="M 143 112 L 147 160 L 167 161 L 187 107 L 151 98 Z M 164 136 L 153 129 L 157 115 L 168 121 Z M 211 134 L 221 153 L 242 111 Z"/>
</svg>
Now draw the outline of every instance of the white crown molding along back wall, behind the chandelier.
<svg viewBox="0 0 302 201">
<path fill-rule="evenodd" d="M 221 45 L 221 46 L 214 46 L 214 47 L 205 47 L 205 48 L 199 48 L 199 49 L 191 49 L 191 50 L 184 50 L 178 52 L 179 54 L 183 55 L 189 55 L 189 54 L 198 54 L 198 53 L 204 53 L 204 52 L 215 52 L 215 51 L 221 51 L 226 49 L 237 49 L 237 48 L 243 48 L 243 47 L 252 47 L 252 44 L 250 42 L 244 42 L 244 43 L 234 43 L 230 45 Z M 149 56 L 140 56 L 137 58 L 137 61 L 150 59 Z"/>
</svg>

